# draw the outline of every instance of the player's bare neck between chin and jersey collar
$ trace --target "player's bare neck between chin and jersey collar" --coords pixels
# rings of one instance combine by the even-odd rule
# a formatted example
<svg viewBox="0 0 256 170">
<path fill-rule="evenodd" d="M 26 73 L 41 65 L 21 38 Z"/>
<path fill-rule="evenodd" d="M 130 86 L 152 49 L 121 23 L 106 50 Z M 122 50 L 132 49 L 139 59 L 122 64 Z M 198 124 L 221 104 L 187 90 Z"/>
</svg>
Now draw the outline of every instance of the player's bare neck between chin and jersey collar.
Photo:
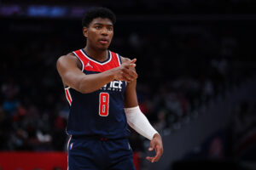
<svg viewBox="0 0 256 170">
<path fill-rule="evenodd" d="M 88 54 L 90 57 L 98 60 L 98 61 L 105 61 L 108 59 L 108 49 L 105 50 L 99 50 L 99 49 L 94 49 L 86 46 L 84 48 L 84 51 L 86 54 Z"/>
</svg>

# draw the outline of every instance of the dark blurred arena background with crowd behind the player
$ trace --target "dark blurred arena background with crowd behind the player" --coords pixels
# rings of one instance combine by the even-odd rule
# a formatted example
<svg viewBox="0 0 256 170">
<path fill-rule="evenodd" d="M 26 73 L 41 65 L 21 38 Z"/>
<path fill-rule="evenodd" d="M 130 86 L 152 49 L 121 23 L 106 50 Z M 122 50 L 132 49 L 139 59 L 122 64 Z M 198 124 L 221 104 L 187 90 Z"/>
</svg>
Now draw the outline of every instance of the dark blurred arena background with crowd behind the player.
<svg viewBox="0 0 256 170">
<path fill-rule="evenodd" d="M 55 61 L 84 48 L 94 6 L 117 15 L 110 49 L 137 58 L 140 107 L 163 138 L 151 164 L 132 131 L 137 170 L 256 169 L 254 0 L 1 0 L 0 169 L 66 169 Z"/>
</svg>

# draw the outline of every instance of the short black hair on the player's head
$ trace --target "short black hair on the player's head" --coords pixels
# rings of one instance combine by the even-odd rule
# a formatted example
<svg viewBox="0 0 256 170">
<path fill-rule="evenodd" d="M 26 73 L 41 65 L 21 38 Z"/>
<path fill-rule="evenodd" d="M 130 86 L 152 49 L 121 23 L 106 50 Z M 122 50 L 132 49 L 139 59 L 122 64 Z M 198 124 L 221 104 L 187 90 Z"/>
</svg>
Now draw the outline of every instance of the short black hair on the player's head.
<svg viewBox="0 0 256 170">
<path fill-rule="evenodd" d="M 103 19 L 107 18 L 112 21 L 113 25 L 115 24 L 116 16 L 109 8 L 97 7 L 90 9 L 84 14 L 82 26 L 88 27 L 92 20 L 99 17 Z"/>
</svg>

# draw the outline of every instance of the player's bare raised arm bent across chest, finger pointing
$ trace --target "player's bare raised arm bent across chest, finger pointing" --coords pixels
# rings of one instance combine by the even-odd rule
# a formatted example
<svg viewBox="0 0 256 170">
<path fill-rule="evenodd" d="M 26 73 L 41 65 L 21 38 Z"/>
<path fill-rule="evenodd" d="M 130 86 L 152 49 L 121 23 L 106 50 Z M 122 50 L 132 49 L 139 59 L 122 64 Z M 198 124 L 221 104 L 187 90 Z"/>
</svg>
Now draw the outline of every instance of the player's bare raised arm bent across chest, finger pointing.
<svg viewBox="0 0 256 170">
<path fill-rule="evenodd" d="M 57 60 L 56 67 L 65 86 L 69 86 L 82 94 L 89 94 L 113 80 L 131 82 L 136 79 L 137 73 L 130 69 L 136 66 L 135 62 L 136 59 L 133 59 L 131 63 L 124 63 L 108 71 L 85 75 L 81 71 L 82 65 L 79 59 L 73 54 L 67 54 Z"/>
</svg>

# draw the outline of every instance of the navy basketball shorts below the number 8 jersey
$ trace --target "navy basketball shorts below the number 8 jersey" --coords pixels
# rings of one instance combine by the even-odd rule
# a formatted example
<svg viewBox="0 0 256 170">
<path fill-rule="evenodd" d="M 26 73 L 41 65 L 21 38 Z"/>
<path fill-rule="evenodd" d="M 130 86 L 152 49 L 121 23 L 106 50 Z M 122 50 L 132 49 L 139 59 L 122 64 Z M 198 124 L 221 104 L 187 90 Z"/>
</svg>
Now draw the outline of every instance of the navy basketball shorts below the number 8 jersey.
<svg viewBox="0 0 256 170">
<path fill-rule="evenodd" d="M 72 137 L 68 170 L 135 170 L 129 140 Z"/>
</svg>

